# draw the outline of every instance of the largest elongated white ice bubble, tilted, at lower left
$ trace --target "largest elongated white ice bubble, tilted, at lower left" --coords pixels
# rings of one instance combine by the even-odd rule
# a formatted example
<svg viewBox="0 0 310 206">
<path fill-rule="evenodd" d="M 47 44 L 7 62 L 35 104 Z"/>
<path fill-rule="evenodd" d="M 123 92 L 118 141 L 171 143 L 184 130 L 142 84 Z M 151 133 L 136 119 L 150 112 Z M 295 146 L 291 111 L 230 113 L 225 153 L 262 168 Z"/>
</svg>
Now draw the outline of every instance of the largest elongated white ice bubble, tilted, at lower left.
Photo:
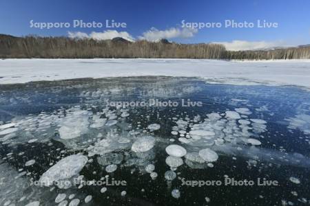
<svg viewBox="0 0 310 206">
<path fill-rule="evenodd" d="M 39 181 L 46 186 L 50 186 L 54 181 L 70 179 L 72 176 L 79 174 L 87 161 L 88 159 L 84 155 L 65 157 L 44 172 Z"/>
</svg>

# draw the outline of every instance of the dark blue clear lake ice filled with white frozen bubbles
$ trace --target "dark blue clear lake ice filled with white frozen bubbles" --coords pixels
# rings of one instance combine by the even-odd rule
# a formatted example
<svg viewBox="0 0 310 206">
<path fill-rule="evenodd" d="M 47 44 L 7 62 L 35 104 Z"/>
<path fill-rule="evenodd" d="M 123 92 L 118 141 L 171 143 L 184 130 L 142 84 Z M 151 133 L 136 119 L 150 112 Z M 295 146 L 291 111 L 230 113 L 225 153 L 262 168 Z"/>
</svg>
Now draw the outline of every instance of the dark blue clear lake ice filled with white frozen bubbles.
<svg viewBox="0 0 310 206">
<path fill-rule="evenodd" d="M 217 83 L 0 84 L 0 204 L 309 205 L 307 85 Z"/>
</svg>

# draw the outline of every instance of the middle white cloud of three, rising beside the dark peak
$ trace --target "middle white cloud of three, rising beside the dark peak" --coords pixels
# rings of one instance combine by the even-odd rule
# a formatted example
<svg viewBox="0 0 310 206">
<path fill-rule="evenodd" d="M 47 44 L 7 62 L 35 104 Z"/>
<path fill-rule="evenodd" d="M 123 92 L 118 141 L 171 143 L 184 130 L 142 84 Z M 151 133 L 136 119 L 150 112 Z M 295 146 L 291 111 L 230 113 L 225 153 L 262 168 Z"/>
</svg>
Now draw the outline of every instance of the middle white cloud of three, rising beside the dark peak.
<svg viewBox="0 0 310 206">
<path fill-rule="evenodd" d="M 145 39 L 147 41 L 159 41 L 161 38 L 189 38 L 194 36 L 197 33 L 197 29 L 192 28 L 176 28 L 172 27 L 168 30 L 157 30 L 156 28 L 152 27 L 147 32 L 143 32 L 142 36 L 139 36 L 140 39 Z"/>
</svg>

